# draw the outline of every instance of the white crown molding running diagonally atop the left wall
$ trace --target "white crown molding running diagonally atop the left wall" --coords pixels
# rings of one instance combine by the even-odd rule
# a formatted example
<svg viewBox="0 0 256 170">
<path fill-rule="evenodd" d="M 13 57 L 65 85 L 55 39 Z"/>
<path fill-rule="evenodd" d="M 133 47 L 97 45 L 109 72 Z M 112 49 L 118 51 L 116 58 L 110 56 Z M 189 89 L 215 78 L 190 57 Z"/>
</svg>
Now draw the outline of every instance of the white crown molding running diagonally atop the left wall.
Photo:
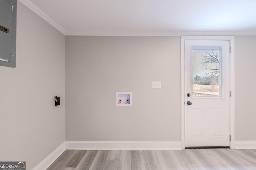
<svg viewBox="0 0 256 170">
<path fill-rule="evenodd" d="M 40 10 L 37 6 L 35 6 L 30 0 L 19 0 L 22 4 L 24 4 L 26 7 L 28 7 L 30 10 L 35 12 L 38 16 L 46 20 L 48 23 L 50 23 L 53 27 L 58 29 L 61 33 L 66 35 L 66 30 L 62 28 L 58 23 L 56 23 L 52 18 L 50 18 L 48 15 L 46 15 L 42 10 Z"/>
</svg>

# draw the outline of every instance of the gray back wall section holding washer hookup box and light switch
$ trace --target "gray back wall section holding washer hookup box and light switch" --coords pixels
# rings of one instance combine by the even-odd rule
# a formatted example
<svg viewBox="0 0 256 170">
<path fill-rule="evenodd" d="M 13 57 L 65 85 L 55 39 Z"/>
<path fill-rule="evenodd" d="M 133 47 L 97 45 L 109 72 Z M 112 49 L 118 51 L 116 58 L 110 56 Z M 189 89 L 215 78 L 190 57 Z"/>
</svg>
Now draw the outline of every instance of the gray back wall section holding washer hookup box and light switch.
<svg viewBox="0 0 256 170">
<path fill-rule="evenodd" d="M 180 37 L 66 36 L 66 140 L 180 141 L 180 86 Z"/>
</svg>

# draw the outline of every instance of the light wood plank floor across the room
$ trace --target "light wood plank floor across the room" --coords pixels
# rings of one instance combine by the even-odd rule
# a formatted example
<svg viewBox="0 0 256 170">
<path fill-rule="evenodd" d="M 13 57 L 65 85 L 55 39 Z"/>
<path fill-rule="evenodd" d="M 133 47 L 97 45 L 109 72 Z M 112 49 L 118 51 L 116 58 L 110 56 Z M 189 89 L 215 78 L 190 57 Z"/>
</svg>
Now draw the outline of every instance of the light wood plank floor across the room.
<svg viewBox="0 0 256 170">
<path fill-rule="evenodd" d="M 256 170 L 256 150 L 66 150 L 47 170 Z"/>
</svg>

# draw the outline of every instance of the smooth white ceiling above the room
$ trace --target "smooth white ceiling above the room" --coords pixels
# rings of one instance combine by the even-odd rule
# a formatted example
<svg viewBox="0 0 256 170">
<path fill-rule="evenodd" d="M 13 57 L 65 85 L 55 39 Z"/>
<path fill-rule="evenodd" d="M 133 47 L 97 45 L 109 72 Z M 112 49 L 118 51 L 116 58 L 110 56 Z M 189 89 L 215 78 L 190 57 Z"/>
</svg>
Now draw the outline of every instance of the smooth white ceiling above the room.
<svg viewBox="0 0 256 170">
<path fill-rule="evenodd" d="M 256 35 L 256 0 L 20 1 L 65 35 Z"/>
</svg>

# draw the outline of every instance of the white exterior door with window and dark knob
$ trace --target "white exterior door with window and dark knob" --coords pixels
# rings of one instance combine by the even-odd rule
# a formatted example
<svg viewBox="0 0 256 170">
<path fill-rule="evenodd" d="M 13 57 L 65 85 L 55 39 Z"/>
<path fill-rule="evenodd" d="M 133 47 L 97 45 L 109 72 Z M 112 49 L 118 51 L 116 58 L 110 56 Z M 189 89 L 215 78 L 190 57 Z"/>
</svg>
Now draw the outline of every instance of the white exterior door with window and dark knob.
<svg viewBox="0 0 256 170">
<path fill-rule="evenodd" d="M 230 146 L 230 41 L 185 40 L 185 147 Z"/>
</svg>

